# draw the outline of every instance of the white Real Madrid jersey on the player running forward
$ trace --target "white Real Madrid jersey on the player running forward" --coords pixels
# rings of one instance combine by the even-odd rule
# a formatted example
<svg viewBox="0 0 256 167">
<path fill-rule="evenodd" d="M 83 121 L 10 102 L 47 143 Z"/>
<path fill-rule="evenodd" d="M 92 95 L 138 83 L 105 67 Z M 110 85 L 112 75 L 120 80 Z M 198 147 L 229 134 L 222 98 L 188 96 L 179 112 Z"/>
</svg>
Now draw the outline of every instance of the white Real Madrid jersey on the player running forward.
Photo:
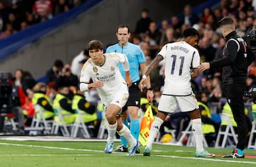
<svg viewBox="0 0 256 167">
<path fill-rule="evenodd" d="M 92 62 L 92 59 L 88 59 L 85 62 L 81 70 L 80 82 L 89 84 L 90 79 L 93 82 L 102 80 L 104 86 L 97 88 L 97 92 L 102 103 L 109 105 L 114 100 L 114 97 L 120 96 L 120 93 L 126 93 L 129 96 L 129 91 L 127 83 L 120 74 L 118 67 L 119 63 L 125 61 L 125 55 L 119 53 L 108 53 L 104 55 L 105 63 L 102 66 L 96 65 Z"/>
</svg>

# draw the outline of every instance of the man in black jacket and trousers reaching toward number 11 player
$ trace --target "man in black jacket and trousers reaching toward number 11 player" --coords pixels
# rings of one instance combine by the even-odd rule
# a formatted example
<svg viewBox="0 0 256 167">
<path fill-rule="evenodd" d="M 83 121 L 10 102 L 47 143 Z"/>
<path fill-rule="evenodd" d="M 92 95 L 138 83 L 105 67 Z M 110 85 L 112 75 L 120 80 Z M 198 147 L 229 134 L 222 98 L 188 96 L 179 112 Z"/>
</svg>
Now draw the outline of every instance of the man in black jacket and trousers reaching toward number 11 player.
<svg viewBox="0 0 256 167">
<path fill-rule="evenodd" d="M 245 93 L 245 79 L 247 67 L 252 63 L 254 55 L 247 49 L 245 41 L 235 32 L 235 23 L 232 18 L 225 17 L 218 22 L 220 31 L 227 40 L 223 50 L 223 58 L 214 62 L 204 62 L 198 69 L 215 69 L 223 67 L 223 84 L 228 104 L 238 124 L 238 144 L 233 153 L 223 158 L 245 158 L 246 137 L 248 125 L 245 116 L 243 94 Z"/>
</svg>

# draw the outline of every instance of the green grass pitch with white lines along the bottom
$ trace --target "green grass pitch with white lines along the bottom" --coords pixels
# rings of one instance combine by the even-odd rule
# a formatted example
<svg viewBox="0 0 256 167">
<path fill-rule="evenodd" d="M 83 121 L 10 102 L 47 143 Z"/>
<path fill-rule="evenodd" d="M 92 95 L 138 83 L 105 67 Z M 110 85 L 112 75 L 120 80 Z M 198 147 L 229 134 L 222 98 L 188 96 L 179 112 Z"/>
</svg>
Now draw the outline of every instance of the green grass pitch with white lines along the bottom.
<svg viewBox="0 0 256 167">
<path fill-rule="evenodd" d="M 116 142 L 114 146 L 117 146 Z M 151 156 L 104 153 L 105 142 L 38 142 L 0 140 L 0 166 L 256 166 L 256 159 L 194 158 L 195 148 L 154 144 Z M 141 147 L 141 152 L 144 148 Z M 232 149 L 206 148 L 214 154 Z M 245 150 L 256 155 L 256 150 Z M 247 162 L 247 163 L 246 163 Z"/>
</svg>

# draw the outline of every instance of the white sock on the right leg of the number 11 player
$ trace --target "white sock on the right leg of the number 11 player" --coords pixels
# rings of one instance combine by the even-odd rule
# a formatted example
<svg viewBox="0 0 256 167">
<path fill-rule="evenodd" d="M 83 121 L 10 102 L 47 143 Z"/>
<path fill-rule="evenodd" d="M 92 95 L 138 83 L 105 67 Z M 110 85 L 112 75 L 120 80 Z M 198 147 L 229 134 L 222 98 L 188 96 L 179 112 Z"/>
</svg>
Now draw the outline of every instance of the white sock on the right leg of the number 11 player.
<svg viewBox="0 0 256 167">
<path fill-rule="evenodd" d="M 192 131 L 196 140 L 196 151 L 203 151 L 203 132 L 201 118 L 192 120 Z"/>
</svg>

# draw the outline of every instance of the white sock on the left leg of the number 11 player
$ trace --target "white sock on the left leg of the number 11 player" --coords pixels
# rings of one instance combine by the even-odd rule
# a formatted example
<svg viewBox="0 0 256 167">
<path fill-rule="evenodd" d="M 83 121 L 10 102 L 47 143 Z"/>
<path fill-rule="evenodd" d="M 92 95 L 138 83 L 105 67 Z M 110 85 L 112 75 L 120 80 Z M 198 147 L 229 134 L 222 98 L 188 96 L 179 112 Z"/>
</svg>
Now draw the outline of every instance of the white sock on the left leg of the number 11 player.
<svg viewBox="0 0 256 167">
<path fill-rule="evenodd" d="M 163 122 L 164 122 L 164 120 L 161 120 L 161 118 L 155 117 L 154 122 L 152 123 L 151 128 L 150 128 L 149 139 L 146 144 L 147 148 L 152 149 L 152 144 L 154 142 L 156 134 L 158 134 L 159 129 Z"/>
</svg>

